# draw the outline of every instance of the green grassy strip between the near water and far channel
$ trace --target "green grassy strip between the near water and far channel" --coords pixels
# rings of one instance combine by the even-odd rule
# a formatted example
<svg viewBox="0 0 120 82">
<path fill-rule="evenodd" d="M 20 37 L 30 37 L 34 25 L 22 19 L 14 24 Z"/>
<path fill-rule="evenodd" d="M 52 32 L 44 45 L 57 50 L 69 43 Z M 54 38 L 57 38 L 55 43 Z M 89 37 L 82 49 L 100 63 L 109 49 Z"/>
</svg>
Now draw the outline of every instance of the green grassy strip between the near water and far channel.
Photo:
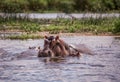
<svg viewBox="0 0 120 82">
<path fill-rule="evenodd" d="M 5 21 L 6 20 L 6 21 Z M 5 27 L 5 28 L 4 28 Z M 9 36 L 10 39 L 41 38 L 33 36 L 34 33 L 49 32 L 57 33 L 120 33 L 119 18 L 83 18 L 83 19 L 14 19 L 0 18 L 0 31 L 14 31 L 29 35 Z"/>
</svg>

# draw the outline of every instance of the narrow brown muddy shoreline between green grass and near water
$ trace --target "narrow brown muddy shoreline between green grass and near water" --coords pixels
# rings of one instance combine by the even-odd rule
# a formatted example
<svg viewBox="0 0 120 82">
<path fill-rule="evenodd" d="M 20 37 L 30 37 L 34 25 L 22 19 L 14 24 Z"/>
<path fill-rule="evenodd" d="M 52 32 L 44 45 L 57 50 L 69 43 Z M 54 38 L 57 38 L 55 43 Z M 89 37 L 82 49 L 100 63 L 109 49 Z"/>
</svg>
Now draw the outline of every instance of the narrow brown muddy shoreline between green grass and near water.
<svg viewBox="0 0 120 82">
<path fill-rule="evenodd" d="M 4 35 L 4 32 L 2 32 Z M 0 35 L 0 39 L 11 39 L 11 40 L 27 40 L 27 39 L 42 39 L 44 38 L 45 35 L 47 36 L 60 36 L 60 37 L 64 37 L 64 36 L 113 36 L 113 37 L 120 37 L 120 34 L 112 34 L 112 33 L 92 33 L 92 32 L 81 32 L 81 33 L 57 33 L 57 34 L 51 34 L 49 32 L 38 32 L 38 33 L 31 33 L 31 34 L 27 34 L 27 33 L 22 33 L 22 32 L 18 32 L 20 33 L 19 35 L 15 35 L 15 33 L 17 32 L 9 32 L 9 33 L 13 33 L 13 35 L 9 35 L 8 36 L 4 36 L 1 37 Z M 1 31 L 0 31 L 1 34 Z"/>
</svg>

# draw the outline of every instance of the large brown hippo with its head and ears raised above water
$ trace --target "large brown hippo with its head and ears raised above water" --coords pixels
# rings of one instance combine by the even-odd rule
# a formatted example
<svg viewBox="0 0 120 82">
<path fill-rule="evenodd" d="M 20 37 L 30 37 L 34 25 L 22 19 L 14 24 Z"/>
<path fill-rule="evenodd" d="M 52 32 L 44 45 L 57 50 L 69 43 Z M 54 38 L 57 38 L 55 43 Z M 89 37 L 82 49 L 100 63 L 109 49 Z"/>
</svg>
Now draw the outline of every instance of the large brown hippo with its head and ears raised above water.
<svg viewBox="0 0 120 82">
<path fill-rule="evenodd" d="M 80 56 L 80 52 L 69 46 L 59 36 L 45 36 L 44 48 L 39 50 L 38 57 Z"/>
</svg>

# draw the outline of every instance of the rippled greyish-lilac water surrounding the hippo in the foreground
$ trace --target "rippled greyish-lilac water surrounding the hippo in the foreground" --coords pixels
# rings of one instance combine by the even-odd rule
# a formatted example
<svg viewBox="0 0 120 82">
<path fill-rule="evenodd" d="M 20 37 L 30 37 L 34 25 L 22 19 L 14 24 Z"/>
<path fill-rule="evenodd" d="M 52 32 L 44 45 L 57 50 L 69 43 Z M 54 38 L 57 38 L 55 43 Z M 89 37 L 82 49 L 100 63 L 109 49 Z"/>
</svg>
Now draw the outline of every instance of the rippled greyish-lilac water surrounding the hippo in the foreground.
<svg viewBox="0 0 120 82">
<path fill-rule="evenodd" d="M 120 37 L 69 36 L 67 43 L 84 44 L 95 55 L 45 62 L 29 46 L 39 40 L 0 40 L 0 82 L 120 82 Z"/>
</svg>

